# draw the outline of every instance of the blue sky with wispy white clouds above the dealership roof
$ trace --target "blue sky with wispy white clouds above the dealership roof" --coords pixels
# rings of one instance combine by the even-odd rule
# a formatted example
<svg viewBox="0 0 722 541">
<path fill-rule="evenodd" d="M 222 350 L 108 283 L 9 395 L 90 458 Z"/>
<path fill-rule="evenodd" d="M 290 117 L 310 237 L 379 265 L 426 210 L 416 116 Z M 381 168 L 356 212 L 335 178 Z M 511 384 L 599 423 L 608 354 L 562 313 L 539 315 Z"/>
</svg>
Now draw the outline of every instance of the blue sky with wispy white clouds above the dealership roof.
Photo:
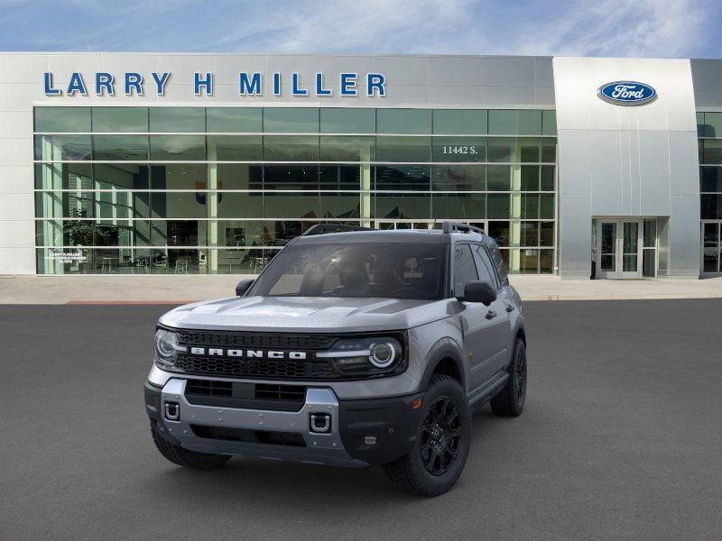
<svg viewBox="0 0 722 541">
<path fill-rule="evenodd" d="M 0 50 L 722 58 L 719 0 L 0 0 Z"/>
</svg>

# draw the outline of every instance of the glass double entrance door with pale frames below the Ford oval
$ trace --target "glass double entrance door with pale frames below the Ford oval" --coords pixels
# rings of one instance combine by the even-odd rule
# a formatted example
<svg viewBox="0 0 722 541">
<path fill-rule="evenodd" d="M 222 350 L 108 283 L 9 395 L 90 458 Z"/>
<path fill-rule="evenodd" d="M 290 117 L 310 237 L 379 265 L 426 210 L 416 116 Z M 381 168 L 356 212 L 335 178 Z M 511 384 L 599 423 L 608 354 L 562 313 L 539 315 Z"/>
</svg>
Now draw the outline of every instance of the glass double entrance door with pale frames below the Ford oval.
<svg viewBox="0 0 722 541">
<path fill-rule="evenodd" d="M 597 220 L 597 278 L 642 278 L 642 220 Z"/>
</svg>

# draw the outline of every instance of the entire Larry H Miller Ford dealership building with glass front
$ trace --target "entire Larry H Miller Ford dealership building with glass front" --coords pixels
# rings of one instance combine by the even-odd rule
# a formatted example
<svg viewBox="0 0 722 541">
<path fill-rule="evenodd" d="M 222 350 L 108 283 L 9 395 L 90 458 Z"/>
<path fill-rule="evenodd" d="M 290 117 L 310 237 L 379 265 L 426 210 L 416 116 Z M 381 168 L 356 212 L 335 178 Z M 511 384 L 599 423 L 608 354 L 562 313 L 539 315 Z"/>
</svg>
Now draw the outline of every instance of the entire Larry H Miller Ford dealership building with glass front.
<svg viewBox="0 0 722 541">
<path fill-rule="evenodd" d="M 319 223 L 720 273 L 722 60 L 0 53 L 0 274 L 245 274 Z"/>
</svg>

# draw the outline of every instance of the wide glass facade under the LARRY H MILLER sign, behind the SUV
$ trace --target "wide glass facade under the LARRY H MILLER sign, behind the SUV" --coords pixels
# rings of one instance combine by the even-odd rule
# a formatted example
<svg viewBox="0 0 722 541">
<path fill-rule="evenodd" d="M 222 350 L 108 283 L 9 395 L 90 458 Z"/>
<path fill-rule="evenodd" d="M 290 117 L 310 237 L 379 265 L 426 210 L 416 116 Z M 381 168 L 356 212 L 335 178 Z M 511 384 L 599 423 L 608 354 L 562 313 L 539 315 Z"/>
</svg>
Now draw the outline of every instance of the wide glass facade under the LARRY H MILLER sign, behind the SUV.
<svg viewBox="0 0 722 541">
<path fill-rule="evenodd" d="M 42 106 L 34 125 L 39 273 L 254 273 L 320 222 L 444 219 L 510 272 L 554 272 L 553 111 Z"/>
</svg>

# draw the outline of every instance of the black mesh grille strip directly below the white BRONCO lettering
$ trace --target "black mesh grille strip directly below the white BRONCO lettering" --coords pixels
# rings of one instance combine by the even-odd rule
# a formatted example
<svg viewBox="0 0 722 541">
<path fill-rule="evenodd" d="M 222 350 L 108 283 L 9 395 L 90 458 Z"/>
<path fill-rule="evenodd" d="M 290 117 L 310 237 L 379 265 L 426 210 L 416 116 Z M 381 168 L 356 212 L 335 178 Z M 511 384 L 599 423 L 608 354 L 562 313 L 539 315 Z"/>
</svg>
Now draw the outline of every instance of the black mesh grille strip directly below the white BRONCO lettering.
<svg viewBox="0 0 722 541">
<path fill-rule="evenodd" d="M 175 365 L 187 374 L 259 380 L 334 380 L 342 378 L 326 359 L 239 359 L 179 354 Z"/>
</svg>

